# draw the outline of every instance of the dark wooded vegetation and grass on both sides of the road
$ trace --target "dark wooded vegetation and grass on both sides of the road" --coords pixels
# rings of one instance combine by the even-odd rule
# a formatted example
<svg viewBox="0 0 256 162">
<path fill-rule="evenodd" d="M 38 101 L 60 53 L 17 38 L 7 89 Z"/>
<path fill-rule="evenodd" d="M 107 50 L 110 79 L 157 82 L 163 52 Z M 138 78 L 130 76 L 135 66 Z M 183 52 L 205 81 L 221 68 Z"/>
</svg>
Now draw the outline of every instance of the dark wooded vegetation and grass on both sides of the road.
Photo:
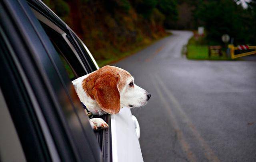
<svg viewBox="0 0 256 162">
<path fill-rule="evenodd" d="M 196 30 L 189 59 L 208 58 L 209 45 L 256 45 L 256 0 L 43 0 L 86 43 L 99 66 L 136 53 L 168 35 L 165 29 Z M 223 49 L 225 52 L 226 49 Z M 225 56 L 219 59 L 227 59 Z"/>
</svg>

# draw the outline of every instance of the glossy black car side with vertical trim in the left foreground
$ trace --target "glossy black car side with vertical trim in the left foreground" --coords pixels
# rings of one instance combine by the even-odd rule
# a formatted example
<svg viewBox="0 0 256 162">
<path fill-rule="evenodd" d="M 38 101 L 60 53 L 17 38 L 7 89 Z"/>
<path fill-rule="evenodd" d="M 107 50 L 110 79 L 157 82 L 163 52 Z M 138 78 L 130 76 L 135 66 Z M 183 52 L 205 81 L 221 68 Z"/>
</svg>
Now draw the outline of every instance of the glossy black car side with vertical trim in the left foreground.
<svg viewBox="0 0 256 162">
<path fill-rule="evenodd" d="M 58 53 L 28 4 L 23 0 L 1 1 L 0 18 L 1 37 L 8 47 L 6 55 L 1 55 L 1 66 L 6 66 L 1 68 L 1 75 L 6 74 L 6 79 L 1 80 L 0 87 L 26 159 L 102 161 L 100 147 Z M 30 122 L 25 128 L 31 129 L 22 129 L 27 120 Z"/>
</svg>

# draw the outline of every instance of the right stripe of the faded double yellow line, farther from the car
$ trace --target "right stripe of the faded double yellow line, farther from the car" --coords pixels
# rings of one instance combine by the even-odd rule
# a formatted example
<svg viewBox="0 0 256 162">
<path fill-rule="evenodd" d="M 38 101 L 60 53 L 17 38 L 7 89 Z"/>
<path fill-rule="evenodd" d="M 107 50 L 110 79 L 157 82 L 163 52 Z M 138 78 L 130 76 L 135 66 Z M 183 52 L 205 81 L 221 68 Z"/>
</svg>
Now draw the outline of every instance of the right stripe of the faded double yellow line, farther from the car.
<svg viewBox="0 0 256 162">
<path fill-rule="evenodd" d="M 160 86 L 162 86 L 162 90 L 164 90 L 165 93 L 168 95 L 168 98 L 170 98 L 174 107 L 176 107 L 176 109 L 178 110 L 178 113 L 179 113 L 181 119 L 184 121 L 184 123 L 186 123 L 188 125 L 188 127 L 192 131 L 194 137 L 196 137 L 196 139 L 198 140 L 198 142 L 204 149 L 204 155 L 206 156 L 206 158 L 211 162 L 220 162 L 218 157 L 214 154 L 214 151 L 210 148 L 210 146 L 207 144 L 207 142 L 204 141 L 204 139 L 202 138 L 200 133 L 198 133 L 198 131 L 196 130 L 196 128 L 194 127 L 194 125 L 192 124 L 192 122 L 190 121 L 190 119 L 188 118 L 186 113 L 183 111 L 178 100 L 170 92 L 169 88 L 167 86 L 165 86 L 165 84 L 162 82 L 162 80 L 159 78 L 159 76 L 156 75 L 155 78 L 156 78 L 156 80 L 158 80 L 158 83 L 160 84 Z"/>
</svg>

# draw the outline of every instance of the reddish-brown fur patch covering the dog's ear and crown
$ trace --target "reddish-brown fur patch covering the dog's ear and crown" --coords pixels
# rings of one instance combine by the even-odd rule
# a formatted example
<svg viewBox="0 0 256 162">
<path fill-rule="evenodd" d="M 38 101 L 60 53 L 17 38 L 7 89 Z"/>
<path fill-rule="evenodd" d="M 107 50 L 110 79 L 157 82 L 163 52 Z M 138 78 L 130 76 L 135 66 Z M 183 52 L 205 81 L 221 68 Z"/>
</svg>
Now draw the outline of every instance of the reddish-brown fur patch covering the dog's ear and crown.
<svg viewBox="0 0 256 162">
<path fill-rule="evenodd" d="M 86 94 L 96 100 L 101 109 L 110 114 L 120 111 L 120 93 L 131 75 L 114 66 L 104 66 L 82 81 Z"/>
</svg>

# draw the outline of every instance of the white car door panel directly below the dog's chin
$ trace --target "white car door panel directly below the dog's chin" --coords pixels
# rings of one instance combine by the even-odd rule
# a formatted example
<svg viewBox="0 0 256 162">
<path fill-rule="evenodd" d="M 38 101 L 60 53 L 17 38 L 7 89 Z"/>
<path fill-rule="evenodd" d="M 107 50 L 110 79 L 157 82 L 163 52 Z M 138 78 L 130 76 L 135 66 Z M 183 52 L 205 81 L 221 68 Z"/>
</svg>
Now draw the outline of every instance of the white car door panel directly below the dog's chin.
<svg viewBox="0 0 256 162">
<path fill-rule="evenodd" d="M 111 115 L 113 162 L 143 162 L 140 143 L 129 108 Z"/>
</svg>

